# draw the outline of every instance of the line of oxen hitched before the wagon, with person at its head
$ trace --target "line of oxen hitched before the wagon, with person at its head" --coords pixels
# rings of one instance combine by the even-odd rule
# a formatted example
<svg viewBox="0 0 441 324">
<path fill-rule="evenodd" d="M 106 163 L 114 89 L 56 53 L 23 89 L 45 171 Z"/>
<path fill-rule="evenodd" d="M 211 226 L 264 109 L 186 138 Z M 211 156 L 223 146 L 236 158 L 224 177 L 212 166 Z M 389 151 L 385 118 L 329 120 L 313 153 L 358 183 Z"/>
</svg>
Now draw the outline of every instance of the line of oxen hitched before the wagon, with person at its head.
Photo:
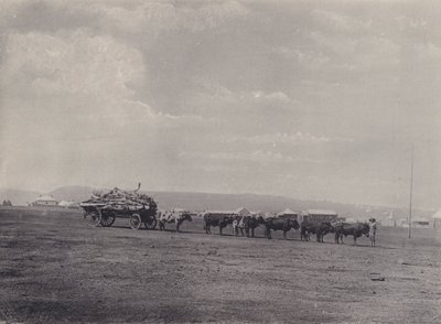
<svg viewBox="0 0 441 324">
<path fill-rule="evenodd" d="M 204 230 L 206 234 L 212 234 L 212 227 L 218 227 L 219 234 L 230 225 L 235 236 L 244 233 L 247 237 L 255 237 L 255 229 L 262 227 L 265 236 L 271 239 L 271 231 L 283 231 L 283 238 L 287 238 L 287 233 L 291 229 L 298 230 L 300 228 L 300 239 L 304 241 L 310 240 L 311 235 L 315 235 L 316 241 L 323 242 L 323 237 L 327 234 L 334 234 L 335 242 L 343 244 L 343 237 L 353 236 L 354 245 L 357 238 L 365 235 L 370 238 L 372 246 L 375 246 L 375 230 L 367 223 L 331 223 L 331 222 L 316 222 L 303 220 L 298 222 L 297 217 L 262 217 L 255 215 L 239 216 L 235 214 L 211 214 L 203 213 L 200 216 L 204 219 Z M 176 231 L 180 231 L 180 226 L 185 222 L 192 222 L 192 214 L 185 210 L 171 210 L 163 212 L 159 215 L 160 230 L 165 229 L 165 224 L 174 224 Z"/>
</svg>

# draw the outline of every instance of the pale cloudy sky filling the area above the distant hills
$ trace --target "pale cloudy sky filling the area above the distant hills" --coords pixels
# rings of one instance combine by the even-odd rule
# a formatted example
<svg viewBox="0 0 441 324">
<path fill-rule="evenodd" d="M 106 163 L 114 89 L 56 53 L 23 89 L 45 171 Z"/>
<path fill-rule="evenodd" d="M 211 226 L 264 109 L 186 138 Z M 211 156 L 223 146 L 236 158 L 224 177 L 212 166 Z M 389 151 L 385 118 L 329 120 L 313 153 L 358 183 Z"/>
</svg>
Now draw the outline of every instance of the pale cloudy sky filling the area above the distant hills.
<svg viewBox="0 0 441 324">
<path fill-rule="evenodd" d="M 0 0 L 0 187 L 441 207 L 437 1 Z"/>
</svg>

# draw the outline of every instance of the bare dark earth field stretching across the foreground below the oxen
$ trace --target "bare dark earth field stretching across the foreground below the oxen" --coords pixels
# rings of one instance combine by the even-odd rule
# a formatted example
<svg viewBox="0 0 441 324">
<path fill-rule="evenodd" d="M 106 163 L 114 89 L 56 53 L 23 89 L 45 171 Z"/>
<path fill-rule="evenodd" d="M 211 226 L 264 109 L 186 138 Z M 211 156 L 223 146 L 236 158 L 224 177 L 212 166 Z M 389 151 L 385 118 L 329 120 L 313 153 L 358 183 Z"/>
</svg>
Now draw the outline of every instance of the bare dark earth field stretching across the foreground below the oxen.
<svg viewBox="0 0 441 324">
<path fill-rule="evenodd" d="M 370 248 L 182 229 L 0 209 L 0 323 L 441 323 L 441 230 L 379 228 Z"/>
</svg>

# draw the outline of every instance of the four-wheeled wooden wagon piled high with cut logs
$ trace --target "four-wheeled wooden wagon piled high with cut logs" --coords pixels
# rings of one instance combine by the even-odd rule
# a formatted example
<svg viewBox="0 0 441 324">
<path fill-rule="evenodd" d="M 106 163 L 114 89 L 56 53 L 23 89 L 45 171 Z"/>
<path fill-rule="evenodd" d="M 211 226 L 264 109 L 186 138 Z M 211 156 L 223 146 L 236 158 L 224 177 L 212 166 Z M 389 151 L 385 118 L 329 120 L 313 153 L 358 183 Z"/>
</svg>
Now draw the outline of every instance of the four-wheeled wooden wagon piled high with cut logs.
<svg viewBox="0 0 441 324">
<path fill-rule="evenodd" d="M 157 226 L 157 203 L 146 194 L 136 191 L 122 191 L 118 187 L 107 193 L 94 193 L 90 199 L 79 205 L 85 210 L 84 218 L 93 226 L 110 227 L 117 217 L 129 218 L 130 227 L 138 229 Z"/>
</svg>

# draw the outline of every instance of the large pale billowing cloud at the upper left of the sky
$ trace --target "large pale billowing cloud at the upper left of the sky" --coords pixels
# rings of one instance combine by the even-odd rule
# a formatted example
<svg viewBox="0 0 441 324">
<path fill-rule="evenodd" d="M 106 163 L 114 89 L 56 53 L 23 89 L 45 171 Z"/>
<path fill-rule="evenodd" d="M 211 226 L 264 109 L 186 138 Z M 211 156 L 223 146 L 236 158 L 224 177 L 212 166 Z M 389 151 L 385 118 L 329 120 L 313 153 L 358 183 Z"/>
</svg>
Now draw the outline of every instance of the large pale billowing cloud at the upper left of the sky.
<svg viewBox="0 0 441 324">
<path fill-rule="evenodd" d="M 34 96 L 125 98 L 133 94 L 128 85 L 144 77 L 142 55 L 136 48 L 85 30 L 14 33 L 7 48 L 3 86 L 22 84 Z"/>
</svg>

